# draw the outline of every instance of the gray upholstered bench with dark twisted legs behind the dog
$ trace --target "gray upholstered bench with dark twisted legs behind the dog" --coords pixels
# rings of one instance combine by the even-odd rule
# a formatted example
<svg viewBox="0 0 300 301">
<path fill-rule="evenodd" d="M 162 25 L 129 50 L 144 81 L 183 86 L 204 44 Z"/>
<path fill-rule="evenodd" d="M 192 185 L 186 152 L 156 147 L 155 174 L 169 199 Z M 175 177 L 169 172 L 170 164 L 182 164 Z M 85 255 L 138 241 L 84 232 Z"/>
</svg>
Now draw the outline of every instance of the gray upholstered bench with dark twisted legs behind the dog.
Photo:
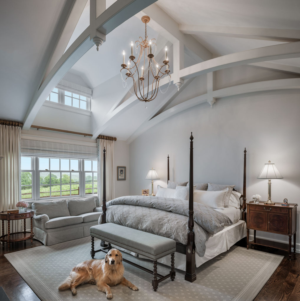
<svg viewBox="0 0 300 301">
<path fill-rule="evenodd" d="M 113 244 L 153 260 L 154 270 L 151 271 L 141 265 L 137 265 L 136 263 L 123 258 L 124 262 L 127 262 L 145 272 L 154 275 L 152 286 L 155 292 L 158 288 L 159 282 L 169 277 L 171 278 L 171 281 L 174 281 L 174 252 L 176 251 L 176 242 L 173 239 L 127 228 L 113 223 L 92 226 L 90 228 L 90 234 L 92 240 L 92 258 L 94 258 L 95 253 L 100 251 L 108 253 L 108 251 L 111 249 L 111 244 Z M 95 251 L 94 237 L 108 242 L 108 246 Z M 171 254 L 171 271 L 168 275 L 162 276 L 157 273 L 157 260 L 169 254 Z M 157 279 L 157 277 L 160 279 Z"/>
</svg>

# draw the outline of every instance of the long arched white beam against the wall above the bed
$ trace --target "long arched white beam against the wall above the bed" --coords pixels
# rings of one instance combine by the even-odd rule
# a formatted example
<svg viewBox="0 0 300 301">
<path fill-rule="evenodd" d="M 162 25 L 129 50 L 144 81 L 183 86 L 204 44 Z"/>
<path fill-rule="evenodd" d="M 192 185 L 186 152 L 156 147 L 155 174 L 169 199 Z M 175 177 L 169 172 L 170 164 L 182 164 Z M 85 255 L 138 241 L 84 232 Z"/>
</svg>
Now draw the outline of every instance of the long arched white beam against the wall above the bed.
<svg viewBox="0 0 300 301">
<path fill-rule="evenodd" d="M 232 95 L 239 95 L 244 93 L 251 93 L 251 92 L 262 92 L 268 90 L 282 90 L 282 89 L 300 89 L 300 78 L 293 78 L 293 79 L 276 79 L 276 80 L 269 80 L 263 82 L 251 82 L 248 84 L 243 85 L 236 85 L 231 86 L 228 88 L 223 88 L 219 90 L 215 90 L 213 92 L 214 98 L 221 98 L 226 96 Z M 164 119 L 171 117 L 177 113 L 180 113 L 184 110 L 187 110 L 191 107 L 194 107 L 198 104 L 202 104 L 206 102 L 208 99 L 208 94 L 205 93 L 203 95 L 196 96 L 191 98 L 187 101 L 184 101 L 180 104 L 171 107 L 170 109 L 160 113 L 159 115 L 153 117 L 148 122 L 144 123 L 140 126 L 126 141 L 127 144 L 131 143 L 135 140 L 139 135 L 147 131 L 148 129 L 152 128 L 156 124 L 160 123 Z"/>
</svg>

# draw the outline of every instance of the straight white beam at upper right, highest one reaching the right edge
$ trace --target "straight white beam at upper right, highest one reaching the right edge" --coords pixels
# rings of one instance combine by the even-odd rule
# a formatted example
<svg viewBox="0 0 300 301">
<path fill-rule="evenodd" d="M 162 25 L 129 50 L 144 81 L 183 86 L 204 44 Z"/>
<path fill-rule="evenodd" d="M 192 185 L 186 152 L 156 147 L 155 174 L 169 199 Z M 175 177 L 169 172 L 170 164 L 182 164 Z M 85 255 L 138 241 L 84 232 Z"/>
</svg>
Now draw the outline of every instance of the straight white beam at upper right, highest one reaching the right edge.
<svg viewBox="0 0 300 301">
<path fill-rule="evenodd" d="M 257 27 L 237 26 L 214 26 L 214 25 L 180 25 L 180 31 L 194 35 L 215 35 L 238 37 L 244 39 L 257 39 L 278 42 L 300 41 L 300 30 L 298 29 L 274 29 Z"/>
</svg>

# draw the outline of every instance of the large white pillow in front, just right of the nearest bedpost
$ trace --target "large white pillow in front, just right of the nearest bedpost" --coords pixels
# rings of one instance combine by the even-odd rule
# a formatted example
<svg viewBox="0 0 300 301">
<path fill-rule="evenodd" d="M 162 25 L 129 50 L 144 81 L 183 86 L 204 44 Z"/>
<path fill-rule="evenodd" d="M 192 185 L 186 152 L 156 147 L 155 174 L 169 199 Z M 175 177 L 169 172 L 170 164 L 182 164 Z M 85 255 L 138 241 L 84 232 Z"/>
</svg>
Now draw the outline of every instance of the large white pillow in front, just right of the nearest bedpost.
<svg viewBox="0 0 300 301">
<path fill-rule="evenodd" d="M 227 193 L 228 188 L 220 191 L 195 190 L 194 202 L 214 209 L 224 209 L 224 198 Z"/>
</svg>

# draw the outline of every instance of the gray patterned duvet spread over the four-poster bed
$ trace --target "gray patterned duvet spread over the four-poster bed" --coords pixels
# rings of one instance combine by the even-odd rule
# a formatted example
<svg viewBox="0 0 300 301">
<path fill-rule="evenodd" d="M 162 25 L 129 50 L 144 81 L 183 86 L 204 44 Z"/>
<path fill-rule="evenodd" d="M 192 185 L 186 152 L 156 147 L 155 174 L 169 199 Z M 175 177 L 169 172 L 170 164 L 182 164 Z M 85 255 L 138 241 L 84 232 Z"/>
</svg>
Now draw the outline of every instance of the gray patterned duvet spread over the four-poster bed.
<svg viewBox="0 0 300 301">
<path fill-rule="evenodd" d="M 169 237 L 187 244 L 189 203 L 185 200 L 152 196 L 118 197 L 106 203 L 106 222 Z M 228 216 L 194 202 L 196 253 L 205 253 L 206 240 L 225 226 Z"/>
</svg>

